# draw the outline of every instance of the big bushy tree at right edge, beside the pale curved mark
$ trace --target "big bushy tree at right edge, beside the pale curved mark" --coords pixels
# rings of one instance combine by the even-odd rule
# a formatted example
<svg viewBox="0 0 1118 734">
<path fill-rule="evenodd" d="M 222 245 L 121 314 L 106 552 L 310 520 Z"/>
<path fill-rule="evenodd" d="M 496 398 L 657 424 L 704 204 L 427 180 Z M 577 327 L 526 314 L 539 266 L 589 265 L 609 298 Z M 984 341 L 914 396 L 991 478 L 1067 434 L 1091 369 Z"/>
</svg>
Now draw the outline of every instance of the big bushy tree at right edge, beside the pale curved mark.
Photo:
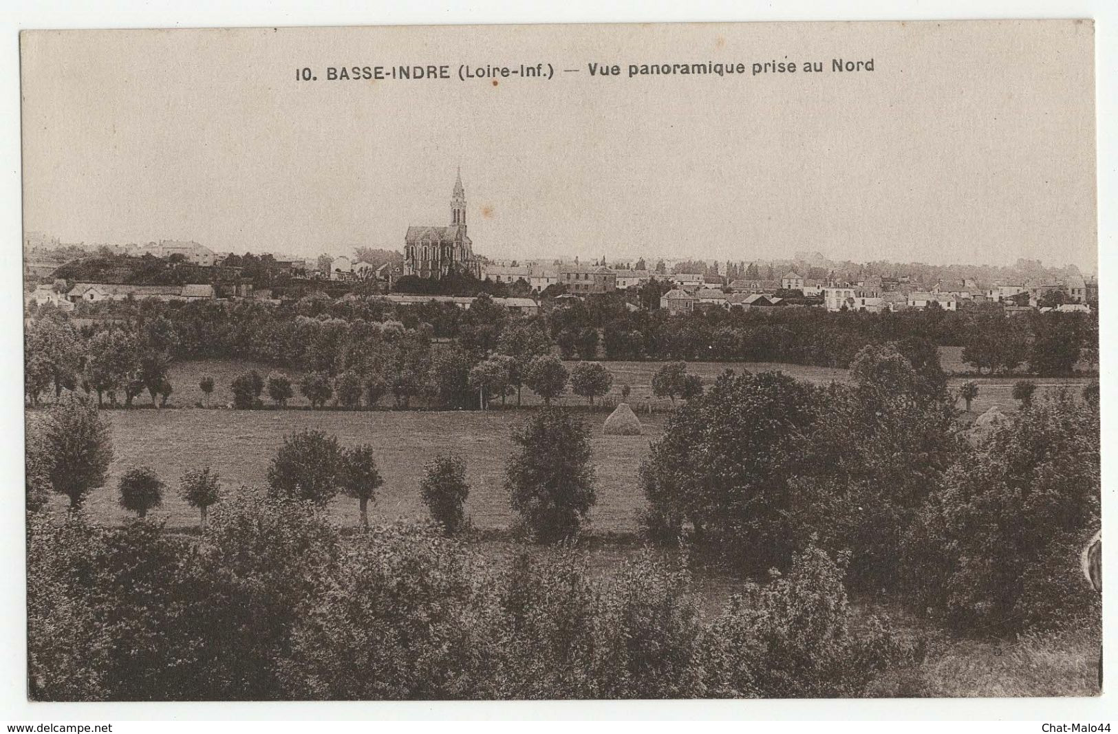
<svg viewBox="0 0 1118 734">
<path fill-rule="evenodd" d="M 1014 413 L 960 457 L 909 530 L 910 598 L 995 633 L 1092 616 L 1078 550 L 1098 530 L 1100 487 L 1097 408 L 1059 391 Z"/>
</svg>

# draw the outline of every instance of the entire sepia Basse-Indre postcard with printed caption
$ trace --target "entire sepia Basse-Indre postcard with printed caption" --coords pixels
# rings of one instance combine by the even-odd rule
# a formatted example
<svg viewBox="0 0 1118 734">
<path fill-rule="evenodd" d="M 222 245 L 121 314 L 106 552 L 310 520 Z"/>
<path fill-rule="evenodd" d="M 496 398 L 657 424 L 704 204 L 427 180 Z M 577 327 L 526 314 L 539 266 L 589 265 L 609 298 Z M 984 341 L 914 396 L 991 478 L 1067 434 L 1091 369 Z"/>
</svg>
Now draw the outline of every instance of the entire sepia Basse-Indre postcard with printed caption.
<svg viewBox="0 0 1118 734">
<path fill-rule="evenodd" d="M 25 31 L 28 698 L 1098 695 L 1093 56 Z"/>
</svg>

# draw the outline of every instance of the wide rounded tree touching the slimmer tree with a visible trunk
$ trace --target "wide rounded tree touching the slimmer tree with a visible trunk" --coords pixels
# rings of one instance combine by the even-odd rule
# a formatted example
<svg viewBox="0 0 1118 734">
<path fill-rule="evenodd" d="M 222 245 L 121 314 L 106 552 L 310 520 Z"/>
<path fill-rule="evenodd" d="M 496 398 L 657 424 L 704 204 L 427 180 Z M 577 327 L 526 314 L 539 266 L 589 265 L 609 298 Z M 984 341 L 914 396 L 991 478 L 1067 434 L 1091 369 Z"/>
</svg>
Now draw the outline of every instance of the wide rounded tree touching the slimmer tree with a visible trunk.
<svg viewBox="0 0 1118 734">
<path fill-rule="evenodd" d="M 292 433 L 268 466 L 271 494 L 324 506 L 338 494 L 341 461 L 335 437 L 311 429 Z"/>
</svg>

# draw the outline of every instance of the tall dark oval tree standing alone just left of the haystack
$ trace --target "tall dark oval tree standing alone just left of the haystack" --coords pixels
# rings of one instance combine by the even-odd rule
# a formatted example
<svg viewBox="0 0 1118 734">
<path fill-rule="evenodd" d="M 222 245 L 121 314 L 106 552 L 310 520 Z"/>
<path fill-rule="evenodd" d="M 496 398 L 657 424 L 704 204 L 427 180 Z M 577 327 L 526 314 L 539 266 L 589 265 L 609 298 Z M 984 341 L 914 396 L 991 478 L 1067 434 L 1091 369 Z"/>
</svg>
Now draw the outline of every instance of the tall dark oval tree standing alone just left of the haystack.
<svg viewBox="0 0 1118 734">
<path fill-rule="evenodd" d="M 595 502 L 586 426 L 565 411 L 544 408 L 512 440 L 518 448 L 509 458 L 504 483 L 512 508 L 538 542 L 575 535 Z"/>
</svg>

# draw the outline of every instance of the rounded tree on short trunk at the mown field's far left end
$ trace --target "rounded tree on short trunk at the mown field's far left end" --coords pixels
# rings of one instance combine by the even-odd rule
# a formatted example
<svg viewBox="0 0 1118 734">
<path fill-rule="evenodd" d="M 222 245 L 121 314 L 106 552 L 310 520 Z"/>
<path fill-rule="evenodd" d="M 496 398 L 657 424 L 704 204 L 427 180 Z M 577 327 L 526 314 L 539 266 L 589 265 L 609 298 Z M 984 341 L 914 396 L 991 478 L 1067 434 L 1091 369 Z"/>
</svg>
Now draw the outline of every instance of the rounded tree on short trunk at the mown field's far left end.
<svg viewBox="0 0 1118 734">
<path fill-rule="evenodd" d="M 95 406 L 72 395 L 51 406 L 42 420 L 50 457 L 50 485 L 78 508 L 85 495 L 102 487 L 113 460 L 112 430 Z"/>
</svg>

